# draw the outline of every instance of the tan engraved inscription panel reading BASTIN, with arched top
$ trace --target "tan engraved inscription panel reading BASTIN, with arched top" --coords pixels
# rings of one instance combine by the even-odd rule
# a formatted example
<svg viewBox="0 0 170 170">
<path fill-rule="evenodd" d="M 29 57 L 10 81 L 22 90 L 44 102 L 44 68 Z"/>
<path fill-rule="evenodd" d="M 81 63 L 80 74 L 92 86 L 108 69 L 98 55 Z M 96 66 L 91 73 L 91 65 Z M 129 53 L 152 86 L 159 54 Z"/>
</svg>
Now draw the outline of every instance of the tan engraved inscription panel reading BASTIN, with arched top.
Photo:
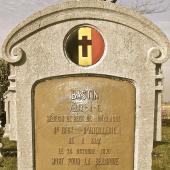
<svg viewBox="0 0 170 170">
<path fill-rule="evenodd" d="M 82 76 L 34 89 L 36 170 L 133 170 L 135 87 Z"/>
</svg>

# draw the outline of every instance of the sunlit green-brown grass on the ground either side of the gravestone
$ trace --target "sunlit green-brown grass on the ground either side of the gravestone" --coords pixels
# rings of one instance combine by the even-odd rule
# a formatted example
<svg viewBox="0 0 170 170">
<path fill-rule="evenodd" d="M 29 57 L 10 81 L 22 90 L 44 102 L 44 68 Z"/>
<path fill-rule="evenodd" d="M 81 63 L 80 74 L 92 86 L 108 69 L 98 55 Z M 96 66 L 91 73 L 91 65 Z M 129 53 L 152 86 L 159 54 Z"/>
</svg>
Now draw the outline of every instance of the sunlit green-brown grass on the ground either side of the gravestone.
<svg viewBox="0 0 170 170">
<path fill-rule="evenodd" d="M 152 170 L 170 170 L 170 127 L 163 127 L 162 142 L 154 143 Z M 2 139 L 3 148 L 13 150 L 15 142 L 7 138 Z M 0 158 L 0 170 L 17 170 L 17 159 L 15 156 Z"/>
</svg>

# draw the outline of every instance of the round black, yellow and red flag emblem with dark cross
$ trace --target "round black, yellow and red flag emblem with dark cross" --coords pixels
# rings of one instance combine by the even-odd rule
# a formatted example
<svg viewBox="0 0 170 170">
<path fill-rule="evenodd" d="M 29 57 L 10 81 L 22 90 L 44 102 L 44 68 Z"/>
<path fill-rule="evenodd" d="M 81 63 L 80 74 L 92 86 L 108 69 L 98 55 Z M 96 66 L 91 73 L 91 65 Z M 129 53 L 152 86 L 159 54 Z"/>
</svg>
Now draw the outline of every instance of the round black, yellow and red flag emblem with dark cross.
<svg viewBox="0 0 170 170">
<path fill-rule="evenodd" d="M 96 64 L 104 53 L 102 35 L 92 27 L 79 27 L 71 32 L 66 41 L 67 56 L 80 66 Z"/>
</svg>

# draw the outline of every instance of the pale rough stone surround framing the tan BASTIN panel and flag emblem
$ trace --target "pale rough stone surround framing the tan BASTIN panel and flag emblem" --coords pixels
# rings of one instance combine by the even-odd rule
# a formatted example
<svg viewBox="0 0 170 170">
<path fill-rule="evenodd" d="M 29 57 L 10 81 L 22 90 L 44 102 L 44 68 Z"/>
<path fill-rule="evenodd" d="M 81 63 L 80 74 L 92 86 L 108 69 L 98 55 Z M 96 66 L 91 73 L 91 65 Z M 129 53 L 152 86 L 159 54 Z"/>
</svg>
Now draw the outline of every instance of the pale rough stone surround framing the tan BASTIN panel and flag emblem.
<svg viewBox="0 0 170 170">
<path fill-rule="evenodd" d="M 106 45 L 101 60 L 85 68 L 72 63 L 63 48 L 68 32 L 82 24 L 97 28 Z M 82 74 L 108 75 L 134 83 L 134 170 L 151 170 L 153 140 L 160 138 L 154 117 L 160 113 L 155 107 L 162 91 L 161 64 L 168 59 L 170 48 L 165 35 L 150 21 L 112 3 L 70 1 L 21 23 L 4 42 L 2 52 L 16 75 L 18 170 L 35 167 L 33 86 L 45 78 Z"/>
</svg>

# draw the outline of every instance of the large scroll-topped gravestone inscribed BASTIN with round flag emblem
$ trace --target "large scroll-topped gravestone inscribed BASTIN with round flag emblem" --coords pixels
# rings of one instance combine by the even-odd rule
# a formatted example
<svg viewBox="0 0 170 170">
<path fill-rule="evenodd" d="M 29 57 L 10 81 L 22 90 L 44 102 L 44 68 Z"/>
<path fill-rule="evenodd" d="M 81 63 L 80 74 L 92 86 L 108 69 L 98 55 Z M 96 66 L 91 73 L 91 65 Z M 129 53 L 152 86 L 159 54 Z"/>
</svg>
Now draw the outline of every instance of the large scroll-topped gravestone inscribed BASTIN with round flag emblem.
<svg viewBox="0 0 170 170">
<path fill-rule="evenodd" d="M 2 48 L 18 170 L 151 170 L 169 47 L 143 16 L 98 0 L 18 25 Z"/>
</svg>

